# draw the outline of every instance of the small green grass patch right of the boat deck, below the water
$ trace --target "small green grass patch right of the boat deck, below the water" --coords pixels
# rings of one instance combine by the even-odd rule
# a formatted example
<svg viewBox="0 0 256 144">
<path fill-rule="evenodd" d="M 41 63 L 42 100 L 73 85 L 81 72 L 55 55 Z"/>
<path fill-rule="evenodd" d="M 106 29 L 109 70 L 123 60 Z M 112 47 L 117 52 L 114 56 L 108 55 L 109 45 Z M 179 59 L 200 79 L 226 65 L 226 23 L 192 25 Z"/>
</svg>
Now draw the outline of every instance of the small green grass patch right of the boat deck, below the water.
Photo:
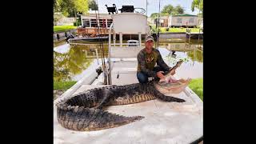
<svg viewBox="0 0 256 144">
<path fill-rule="evenodd" d="M 189 84 L 189 87 L 191 90 L 194 91 L 195 94 L 198 94 L 198 96 L 202 99 L 203 93 L 202 93 L 202 78 L 196 78 L 192 79 L 192 81 Z"/>
</svg>

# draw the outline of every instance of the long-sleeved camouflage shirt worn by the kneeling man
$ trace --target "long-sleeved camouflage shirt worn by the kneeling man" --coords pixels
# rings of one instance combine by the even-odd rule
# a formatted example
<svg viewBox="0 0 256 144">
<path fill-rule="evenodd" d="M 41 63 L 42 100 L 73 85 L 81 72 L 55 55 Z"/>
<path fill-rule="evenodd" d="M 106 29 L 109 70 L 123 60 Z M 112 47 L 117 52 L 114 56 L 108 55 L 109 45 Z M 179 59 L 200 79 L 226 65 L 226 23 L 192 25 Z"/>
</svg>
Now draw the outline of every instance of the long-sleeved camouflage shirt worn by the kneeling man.
<svg viewBox="0 0 256 144">
<path fill-rule="evenodd" d="M 142 71 L 145 74 L 148 74 L 150 77 L 156 77 L 157 72 L 153 71 L 156 64 L 161 66 L 164 70 L 170 70 L 170 66 L 166 65 L 166 62 L 163 61 L 162 56 L 157 49 L 152 49 L 150 54 L 146 53 L 146 50 L 143 49 L 138 53 L 138 71 Z"/>
</svg>

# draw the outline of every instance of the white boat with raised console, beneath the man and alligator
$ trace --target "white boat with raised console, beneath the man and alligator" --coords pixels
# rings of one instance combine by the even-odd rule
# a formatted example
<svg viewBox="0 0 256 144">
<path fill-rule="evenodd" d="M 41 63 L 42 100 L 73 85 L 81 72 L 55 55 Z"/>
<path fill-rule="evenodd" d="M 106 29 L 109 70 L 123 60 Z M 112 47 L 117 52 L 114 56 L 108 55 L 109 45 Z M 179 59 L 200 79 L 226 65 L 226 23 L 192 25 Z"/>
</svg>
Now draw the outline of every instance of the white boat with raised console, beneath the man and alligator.
<svg viewBox="0 0 256 144">
<path fill-rule="evenodd" d="M 133 22 L 131 22 L 133 21 Z M 114 26 L 114 27 L 113 27 Z M 126 85 L 136 83 L 138 52 L 144 48 L 141 46 L 142 34 L 148 33 L 146 16 L 142 14 L 114 14 L 110 30 L 119 34 L 121 43 L 114 46 L 109 37 L 109 56 L 111 64 L 112 85 Z M 110 31 L 111 32 L 111 31 Z M 139 46 L 122 46 L 122 34 L 138 34 Z M 111 36 L 111 33 L 109 33 Z M 120 46 L 118 46 L 120 45 Z M 123 58 L 124 61 L 114 60 Z M 134 61 L 126 61 L 125 58 L 135 58 Z M 112 62 L 116 61 L 116 62 Z M 119 74 L 119 76 L 118 76 Z M 62 98 L 72 97 L 84 90 L 90 90 L 102 81 L 102 76 L 96 79 L 92 85 L 85 85 L 88 78 L 71 87 L 70 93 L 57 98 L 54 104 Z M 73 91 L 74 90 L 74 93 Z M 72 92 L 72 93 L 71 93 Z M 140 102 L 130 105 L 109 106 L 108 111 L 124 116 L 144 116 L 140 121 L 132 122 L 124 126 L 118 126 L 106 130 L 74 131 L 63 128 L 57 120 L 57 110 L 54 106 L 54 143 L 55 144 L 187 144 L 202 137 L 202 101 L 188 87 L 180 94 L 166 94 L 182 98 L 186 102 L 162 102 L 158 99 Z"/>
</svg>

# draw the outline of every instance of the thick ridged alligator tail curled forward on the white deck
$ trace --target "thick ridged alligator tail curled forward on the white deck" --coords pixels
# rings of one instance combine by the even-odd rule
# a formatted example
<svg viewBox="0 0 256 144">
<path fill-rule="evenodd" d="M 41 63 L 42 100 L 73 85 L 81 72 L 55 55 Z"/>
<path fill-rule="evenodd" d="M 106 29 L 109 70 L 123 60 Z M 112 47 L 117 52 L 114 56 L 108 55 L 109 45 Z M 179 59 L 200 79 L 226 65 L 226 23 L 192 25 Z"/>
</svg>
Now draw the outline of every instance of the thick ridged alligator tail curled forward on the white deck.
<svg viewBox="0 0 256 144">
<path fill-rule="evenodd" d="M 57 106 L 57 118 L 58 122 L 69 130 L 90 131 L 126 125 L 144 117 L 125 117 L 102 109 L 68 106 L 62 103 Z"/>
</svg>

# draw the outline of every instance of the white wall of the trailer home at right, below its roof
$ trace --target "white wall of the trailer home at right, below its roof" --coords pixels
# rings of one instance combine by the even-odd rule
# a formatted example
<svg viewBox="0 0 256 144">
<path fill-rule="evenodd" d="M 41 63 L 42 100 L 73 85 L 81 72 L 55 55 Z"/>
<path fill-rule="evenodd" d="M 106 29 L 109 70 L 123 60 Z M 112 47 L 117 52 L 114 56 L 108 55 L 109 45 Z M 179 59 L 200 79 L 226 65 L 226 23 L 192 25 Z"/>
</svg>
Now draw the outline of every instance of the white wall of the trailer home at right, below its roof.
<svg viewBox="0 0 256 144">
<path fill-rule="evenodd" d="M 198 26 L 198 17 L 197 16 L 195 17 L 170 16 L 168 26 Z"/>
</svg>

